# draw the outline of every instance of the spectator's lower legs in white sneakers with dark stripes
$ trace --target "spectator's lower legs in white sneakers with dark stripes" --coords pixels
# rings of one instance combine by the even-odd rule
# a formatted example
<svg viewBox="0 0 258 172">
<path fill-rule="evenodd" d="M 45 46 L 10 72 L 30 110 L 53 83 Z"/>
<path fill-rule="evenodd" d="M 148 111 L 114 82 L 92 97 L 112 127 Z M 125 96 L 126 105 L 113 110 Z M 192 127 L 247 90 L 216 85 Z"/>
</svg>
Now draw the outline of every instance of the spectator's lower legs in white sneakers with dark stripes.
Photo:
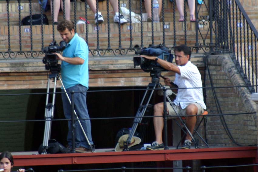
<svg viewBox="0 0 258 172">
<path fill-rule="evenodd" d="M 124 19 L 124 16 L 120 14 L 118 14 L 118 0 L 109 0 L 113 11 L 115 13 L 114 15 L 114 22 L 115 23 L 119 23 L 119 18 L 120 18 L 120 24 L 125 24 L 127 23 L 127 20 Z M 96 0 L 87 0 L 88 5 L 90 6 L 91 11 L 95 14 L 95 23 L 97 24 L 101 24 L 104 22 L 103 16 L 101 15 L 101 12 L 98 12 L 97 14 L 97 8 L 96 8 Z"/>
</svg>

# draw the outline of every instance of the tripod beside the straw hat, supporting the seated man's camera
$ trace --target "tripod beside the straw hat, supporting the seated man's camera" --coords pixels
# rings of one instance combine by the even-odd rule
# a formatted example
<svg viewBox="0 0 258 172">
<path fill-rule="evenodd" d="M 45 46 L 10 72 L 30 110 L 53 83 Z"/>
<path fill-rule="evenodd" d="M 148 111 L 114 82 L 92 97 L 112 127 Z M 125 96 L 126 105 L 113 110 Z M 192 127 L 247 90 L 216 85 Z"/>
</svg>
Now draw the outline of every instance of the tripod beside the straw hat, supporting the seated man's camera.
<svg viewBox="0 0 258 172">
<path fill-rule="evenodd" d="M 134 118 L 134 123 L 131 129 L 131 132 L 129 133 L 129 136 L 127 138 L 127 140 L 124 142 L 124 149 L 123 151 L 128 151 L 128 145 L 131 143 L 131 139 L 134 136 L 134 133 L 137 129 L 137 126 L 139 123 L 141 123 L 142 117 L 145 114 L 145 111 L 149 105 L 149 102 L 151 100 L 151 97 L 153 95 L 153 92 L 155 90 L 155 88 L 162 88 L 163 89 L 163 103 L 164 103 L 164 109 L 163 109 L 163 120 L 164 120 L 164 134 L 165 134 L 165 149 L 168 149 L 168 133 L 167 133 L 167 101 L 171 104 L 172 106 L 172 101 L 169 98 L 169 96 L 166 94 L 166 87 L 162 87 L 161 83 L 159 83 L 159 77 L 161 76 L 161 70 L 151 70 L 151 83 L 149 83 L 144 96 L 141 100 L 141 104 L 137 110 L 136 116 Z M 172 106 L 172 108 L 174 109 L 174 107 Z M 174 109 L 175 110 L 175 109 Z M 192 133 L 188 130 L 188 127 L 186 126 L 186 124 L 184 123 L 182 117 L 177 113 L 177 111 L 175 110 L 176 115 L 178 116 L 179 120 L 181 121 L 181 123 L 184 125 L 185 129 L 187 130 L 187 132 L 189 133 L 190 137 L 192 138 L 193 142 L 195 143 L 195 140 L 192 136 Z"/>
</svg>

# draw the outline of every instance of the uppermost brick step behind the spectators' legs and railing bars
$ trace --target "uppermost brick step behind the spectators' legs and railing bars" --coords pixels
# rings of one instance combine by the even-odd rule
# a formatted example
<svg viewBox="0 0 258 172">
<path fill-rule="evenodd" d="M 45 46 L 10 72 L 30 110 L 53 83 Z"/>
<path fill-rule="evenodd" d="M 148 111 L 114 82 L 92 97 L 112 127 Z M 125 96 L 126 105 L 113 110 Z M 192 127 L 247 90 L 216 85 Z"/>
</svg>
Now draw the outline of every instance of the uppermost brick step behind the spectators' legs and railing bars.
<svg viewBox="0 0 258 172">
<path fill-rule="evenodd" d="M 77 8 L 76 8 L 76 18 L 77 20 L 79 17 L 85 18 L 85 3 L 81 1 L 77 1 Z M 107 2 L 99 2 L 99 12 L 102 13 L 104 17 L 104 23 L 107 23 Z M 122 0 L 120 1 L 120 6 L 126 6 L 127 9 L 129 9 L 129 1 Z M 10 25 L 19 25 L 19 4 L 18 1 L 10 1 L 9 5 L 9 11 L 10 11 Z M 171 3 L 169 0 L 165 0 L 165 5 L 164 5 L 164 11 L 165 11 L 165 22 L 172 22 L 173 20 L 173 3 Z M 28 1 L 21 1 L 21 19 L 23 19 L 25 16 L 29 15 L 29 2 Z M 110 23 L 114 23 L 113 21 L 113 9 L 112 6 L 109 5 L 109 11 L 110 11 Z M 132 12 L 136 14 L 140 14 L 140 1 L 138 0 L 132 0 L 131 1 L 131 9 Z M 179 18 L 179 14 L 177 11 L 177 8 L 175 8 L 175 17 L 176 21 Z M 95 24 L 94 22 L 94 14 L 90 10 L 90 8 L 87 8 L 87 16 L 88 16 L 88 21 L 91 24 Z M 203 12 L 207 10 L 201 10 Z M 145 8 L 144 8 L 144 3 L 143 3 L 143 13 L 145 13 Z M 40 14 L 40 5 L 38 1 L 33 0 L 32 1 L 32 14 Z M 47 15 L 49 24 L 52 23 L 52 17 L 51 17 L 51 12 L 50 10 L 47 12 L 44 12 L 44 14 Z M 202 15 L 208 15 L 208 14 L 202 14 Z M 187 11 L 187 16 L 189 16 L 189 13 Z M 63 12 L 59 12 L 59 20 L 63 19 Z M 74 19 L 74 2 L 71 2 L 71 20 Z M 189 20 L 187 19 L 187 22 Z M 1 25 L 7 25 L 7 3 L 6 1 L 0 1 L 0 23 Z"/>
</svg>

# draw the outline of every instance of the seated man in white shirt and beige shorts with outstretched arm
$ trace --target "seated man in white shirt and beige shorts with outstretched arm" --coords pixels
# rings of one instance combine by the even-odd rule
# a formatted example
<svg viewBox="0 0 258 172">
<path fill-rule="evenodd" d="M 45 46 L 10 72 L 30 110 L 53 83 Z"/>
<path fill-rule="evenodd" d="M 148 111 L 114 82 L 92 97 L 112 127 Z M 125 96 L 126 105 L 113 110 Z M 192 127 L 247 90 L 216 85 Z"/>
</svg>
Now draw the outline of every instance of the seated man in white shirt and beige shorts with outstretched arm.
<svg viewBox="0 0 258 172">
<path fill-rule="evenodd" d="M 175 47 L 175 62 L 176 65 L 159 59 L 155 56 L 141 55 L 146 59 L 155 60 L 163 68 L 175 72 L 175 84 L 178 88 L 190 88 L 190 89 L 178 89 L 176 99 L 173 104 L 167 102 L 168 115 L 176 116 L 186 115 L 186 125 L 191 133 L 195 128 L 197 120 L 196 115 L 201 115 L 206 110 L 206 105 L 203 102 L 202 93 L 202 79 L 198 68 L 191 63 L 191 48 L 185 45 Z M 174 85 L 170 82 L 170 79 L 165 79 L 165 85 L 171 88 Z M 196 87 L 196 89 L 191 89 Z M 173 107 L 172 107 L 173 106 Z M 156 141 L 151 146 L 148 146 L 147 150 L 164 150 L 164 144 L 162 141 L 162 130 L 164 126 L 163 117 L 156 117 L 163 115 L 163 102 L 154 105 L 154 131 Z M 176 112 L 177 113 L 176 113 Z M 187 133 L 185 142 L 182 145 L 182 149 L 190 149 L 192 144 L 192 138 Z"/>
</svg>

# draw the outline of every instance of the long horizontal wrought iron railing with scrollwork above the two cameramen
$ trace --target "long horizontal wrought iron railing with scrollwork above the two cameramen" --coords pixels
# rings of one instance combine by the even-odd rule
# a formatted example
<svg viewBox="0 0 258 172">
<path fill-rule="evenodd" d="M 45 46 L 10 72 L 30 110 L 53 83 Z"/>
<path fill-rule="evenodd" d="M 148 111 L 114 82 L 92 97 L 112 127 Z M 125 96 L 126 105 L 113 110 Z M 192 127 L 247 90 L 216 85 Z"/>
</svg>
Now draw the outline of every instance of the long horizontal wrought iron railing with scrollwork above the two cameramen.
<svg viewBox="0 0 258 172">
<path fill-rule="evenodd" d="M 21 7 L 21 0 L 17 0 L 18 1 L 18 6 Z M 41 10 L 40 10 L 40 14 L 41 16 L 43 16 L 43 6 L 42 6 L 42 0 L 41 1 Z M 26 45 L 26 48 L 25 46 L 23 45 L 22 41 L 22 17 L 21 17 L 21 8 L 18 8 L 18 12 L 19 12 L 19 50 L 16 51 L 16 50 L 13 50 L 11 48 L 11 38 L 10 38 L 10 34 L 11 34 L 11 31 L 10 31 L 10 28 L 12 27 L 12 25 L 10 25 L 10 10 L 9 10 L 9 6 L 10 6 L 10 0 L 6 0 L 7 2 L 7 21 L 8 21 L 8 49 L 7 50 L 0 50 L 0 58 L 3 58 L 3 59 L 14 59 L 14 58 L 28 58 L 28 59 L 31 59 L 31 58 L 37 58 L 39 56 L 43 56 L 44 53 L 43 53 L 43 49 L 44 49 L 44 46 L 47 46 L 50 42 L 46 42 L 46 39 L 44 38 L 45 34 L 44 34 L 44 26 L 43 26 L 43 17 L 41 17 L 41 48 L 34 48 L 33 47 L 33 39 L 34 39 L 34 32 L 33 32 L 33 25 L 32 23 L 30 23 L 29 25 L 29 31 L 30 31 L 30 45 Z M 26 2 L 26 1 L 25 1 Z M 143 16 L 143 0 L 140 1 L 140 16 L 141 16 L 141 19 L 142 19 L 142 16 Z M 52 5 L 53 5 L 53 0 L 52 0 Z M 73 19 L 73 22 L 74 23 L 77 23 L 77 1 L 74 0 L 73 2 L 73 8 L 74 8 L 74 19 Z M 143 34 L 143 27 L 144 27 L 144 22 L 140 22 L 140 33 L 141 33 L 141 41 L 138 43 L 139 46 L 133 46 L 133 27 L 134 27 L 134 23 L 132 23 L 131 21 L 131 8 L 132 8 L 132 5 L 131 5 L 131 0 L 128 2 L 129 3 L 129 10 L 130 10 L 130 21 L 128 22 L 127 24 L 127 28 L 130 28 L 130 45 L 123 45 L 122 44 L 122 31 L 121 31 L 121 25 L 120 24 L 117 24 L 117 26 L 115 27 L 118 27 L 118 42 L 119 42 L 119 45 L 118 47 L 111 47 L 111 44 L 110 44 L 110 13 L 109 13 L 109 1 L 107 0 L 106 1 L 107 3 L 107 47 L 100 47 L 100 33 L 99 33 L 99 29 L 96 29 L 97 31 L 97 34 L 96 34 L 96 42 L 97 42 L 97 46 L 95 48 L 92 48 L 90 47 L 89 51 L 90 51 L 90 54 L 92 56 L 124 56 L 124 55 L 128 55 L 128 54 L 134 54 L 135 50 L 138 49 L 138 48 L 143 48 L 143 47 L 146 47 L 148 46 L 149 42 L 145 41 L 144 40 L 144 34 Z M 118 5 L 120 6 L 120 1 L 118 1 Z M 188 42 L 187 40 L 187 37 L 188 37 L 188 30 L 187 30 L 187 22 L 184 21 L 183 22 L 183 30 L 184 30 L 184 35 L 179 35 L 177 33 L 177 30 L 176 30 L 176 15 L 177 15 L 177 12 L 176 12 L 176 8 L 175 8 L 175 1 L 173 2 L 169 2 L 167 1 L 167 3 L 172 3 L 172 15 L 171 15 L 171 19 L 170 22 L 165 22 L 165 8 L 164 8 L 164 4 L 165 4 L 165 0 L 162 0 L 162 11 L 161 11 L 161 15 L 162 15 L 162 28 L 164 29 L 160 29 L 160 31 L 156 31 L 154 26 L 156 26 L 155 23 L 151 23 L 151 44 L 154 45 L 154 44 L 159 44 L 159 43 L 162 43 L 163 45 L 166 45 L 168 46 L 169 48 L 172 48 L 173 46 L 176 46 L 178 45 L 178 42 L 182 42 L 182 37 L 184 39 L 184 43 L 185 44 L 191 44 L 190 42 Z M 193 51 L 196 51 L 196 52 L 199 52 L 200 50 L 202 50 L 202 52 L 209 52 L 210 49 L 211 49 L 211 45 L 213 46 L 213 43 L 211 43 L 209 41 L 209 38 L 207 37 L 207 35 L 209 35 L 209 30 L 211 29 L 208 29 L 208 30 L 205 30 L 203 29 L 204 26 L 207 26 L 209 25 L 209 20 L 208 20 L 208 16 L 209 16 L 209 6 L 207 4 L 207 2 L 203 1 L 203 3 L 201 5 L 199 5 L 197 2 L 195 2 L 195 9 L 196 9 L 196 19 L 199 19 L 196 21 L 195 23 L 195 42 L 192 43 L 192 47 L 193 47 Z M 81 3 L 83 4 L 83 3 Z M 97 1 L 97 12 L 98 12 L 98 1 Z M 84 2 L 84 5 L 85 5 L 85 18 L 86 20 L 88 19 L 88 10 L 87 10 L 87 1 Z M 186 7 L 186 2 L 185 2 L 185 7 Z M 65 10 L 65 1 L 63 0 L 63 8 Z M 206 11 L 204 15 L 202 15 L 202 13 L 200 12 L 200 9 L 202 9 L 202 11 Z M 203 10 L 204 9 L 204 10 Z M 52 9 L 53 10 L 53 9 Z M 187 14 L 186 13 L 186 8 L 184 8 L 185 10 L 185 15 Z M 32 20 L 32 0 L 29 0 L 29 16 L 30 16 L 30 19 Z M 53 11 L 52 11 L 52 14 L 53 14 Z M 64 13 L 65 14 L 65 13 Z M 66 16 L 64 15 L 63 18 L 65 19 Z M 53 15 L 52 15 L 52 19 L 53 19 Z M 170 23 L 171 25 L 173 26 L 173 34 L 172 36 L 168 36 L 167 33 L 170 32 L 170 31 L 166 31 L 166 27 L 170 27 Z M 194 24 L 193 24 L 194 25 Z M 75 31 L 77 31 L 77 25 L 75 25 Z M 97 24 L 97 28 L 99 28 L 100 25 Z M 86 42 L 88 43 L 89 42 L 89 39 L 88 39 L 88 28 L 89 28 L 89 25 L 86 24 L 86 32 L 85 32 L 85 40 Z M 200 27 L 200 28 L 199 28 Z M 56 38 L 56 35 L 59 36 L 58 34 L 55 33 L 55 25 L 52 23 L 52 39 L 55 40 Z M 156 35 L 156 33 L 158 32 L 162 32 L 162 35 L 159 34 L 158 36 Z M 205 33 L 204 33 L 205 32 Z M 212 38 L 212 36 L 210 36 Z M 159 41 L 155 41 L 155 39 L 158 39 Z M 173 39 L 173 43 L 171 44 L 168 44 L 168 40 L 171 40 Z M 181 44 L 181 43 L 179 43 Z M 29 50 L 28 47 L 30 48 Z"/>
</svg>

